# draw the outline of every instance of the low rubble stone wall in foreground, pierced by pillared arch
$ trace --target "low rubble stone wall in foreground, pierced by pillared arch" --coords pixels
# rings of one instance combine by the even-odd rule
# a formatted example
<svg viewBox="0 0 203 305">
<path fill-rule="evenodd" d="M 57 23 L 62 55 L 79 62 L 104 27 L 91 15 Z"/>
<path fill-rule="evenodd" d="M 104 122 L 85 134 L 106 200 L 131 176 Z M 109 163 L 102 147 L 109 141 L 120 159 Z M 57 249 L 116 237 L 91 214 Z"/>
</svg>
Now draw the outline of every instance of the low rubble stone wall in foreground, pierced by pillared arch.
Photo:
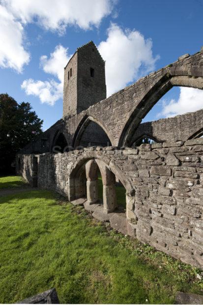
<svg viewBox="0 0 203 305">
<path fill-rule="evenodd" d="M 32 157 L 21 156 L 21 163 Z M 89 159 L 104 162 L 126 188 L 129 235 L 203 268 L 203 138 L 45 153 L 39 155 L 38 186 L 74 200 L 77 177 Z"/>
</svg>

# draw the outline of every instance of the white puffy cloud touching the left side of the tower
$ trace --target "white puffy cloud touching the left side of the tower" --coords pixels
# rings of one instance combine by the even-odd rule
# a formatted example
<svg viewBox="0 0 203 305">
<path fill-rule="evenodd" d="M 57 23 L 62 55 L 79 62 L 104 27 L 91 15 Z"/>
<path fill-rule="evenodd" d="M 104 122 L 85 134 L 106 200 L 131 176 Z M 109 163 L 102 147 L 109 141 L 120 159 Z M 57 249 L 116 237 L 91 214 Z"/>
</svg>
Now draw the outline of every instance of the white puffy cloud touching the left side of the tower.
<svg viewBox="0 0 203 305">
<path fill-rule="evenodd" d="M 63 72 L 64 66 L 69 61 L 72 55 L 68 56 L 68 48 L 64 48 L 61 45 L 56 46 L 55 51 L 50 54 L 50 58 L 47 56 L 41 56 L 40 67 L 46 73 L 50 73 L 56 76 L 59 82 L 51 79 L 49 81 L 34 81 L 28 79 L 23 82 L 21 88 L 26 91 L 28 95 L 38 96 L 42 103 L 54 105 L 55 102 L 63 97 Z"/>
</svg>

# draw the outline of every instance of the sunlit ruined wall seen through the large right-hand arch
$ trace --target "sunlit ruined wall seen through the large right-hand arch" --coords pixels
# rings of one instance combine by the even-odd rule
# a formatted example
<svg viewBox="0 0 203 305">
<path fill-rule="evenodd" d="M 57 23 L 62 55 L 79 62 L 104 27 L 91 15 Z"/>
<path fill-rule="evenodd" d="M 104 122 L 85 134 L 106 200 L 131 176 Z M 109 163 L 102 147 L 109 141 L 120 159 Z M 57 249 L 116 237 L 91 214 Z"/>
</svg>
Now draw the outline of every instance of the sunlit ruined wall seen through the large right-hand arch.
<svg viewBox="0 0 203 305">
<path fill-rule="evenodd" d="M 203 109 L 173 118 L 142 123 L 135 130 L 131 144 L 143 135 L 152 136 L 158 142 L 186 141 L 201 128 L 203 128 Z"/>
</svg>

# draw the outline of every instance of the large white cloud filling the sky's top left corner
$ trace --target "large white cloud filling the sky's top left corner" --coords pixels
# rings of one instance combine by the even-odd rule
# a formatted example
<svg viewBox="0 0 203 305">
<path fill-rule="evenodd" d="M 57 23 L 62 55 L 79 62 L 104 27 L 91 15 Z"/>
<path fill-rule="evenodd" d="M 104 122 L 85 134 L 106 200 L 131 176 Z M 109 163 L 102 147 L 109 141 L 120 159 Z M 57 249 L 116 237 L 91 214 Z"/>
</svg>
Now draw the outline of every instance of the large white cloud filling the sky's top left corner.
<svg viewBox="0 0 203 305">
<path fill-rule="evenodd" d="M 116 0 L 0 0 L 0 67 L 22 72 L 29 63 L 24 27 L 37 23 L 63 34 L 67 26 L 98 27 Z"/>
</svg>

